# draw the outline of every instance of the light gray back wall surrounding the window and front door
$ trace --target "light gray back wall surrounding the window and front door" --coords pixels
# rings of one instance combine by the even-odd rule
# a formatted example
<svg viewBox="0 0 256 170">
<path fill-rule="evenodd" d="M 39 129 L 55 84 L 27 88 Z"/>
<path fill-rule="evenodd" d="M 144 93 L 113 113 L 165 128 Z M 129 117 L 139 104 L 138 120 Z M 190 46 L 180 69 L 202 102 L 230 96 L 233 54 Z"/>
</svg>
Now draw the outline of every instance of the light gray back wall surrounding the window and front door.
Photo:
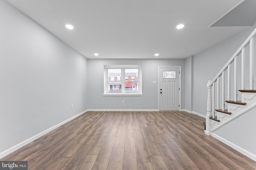
<svg viewBox="0 0 256 170">
<path fill-rule="evenodd" d="M 104 93 L 104 65 L 138 64 L 142 66 L 144 96 L 114 97 Z M 185 106 L 185 59 L 88 59 L 88 108 L 90 109 L 158 109 L 158 66 L 181 66 L 181 108 Z M 153 81 L 156 84 L 153 84 Z M 122 104 L 122 100 L 125 101 Z"/>
</svg>

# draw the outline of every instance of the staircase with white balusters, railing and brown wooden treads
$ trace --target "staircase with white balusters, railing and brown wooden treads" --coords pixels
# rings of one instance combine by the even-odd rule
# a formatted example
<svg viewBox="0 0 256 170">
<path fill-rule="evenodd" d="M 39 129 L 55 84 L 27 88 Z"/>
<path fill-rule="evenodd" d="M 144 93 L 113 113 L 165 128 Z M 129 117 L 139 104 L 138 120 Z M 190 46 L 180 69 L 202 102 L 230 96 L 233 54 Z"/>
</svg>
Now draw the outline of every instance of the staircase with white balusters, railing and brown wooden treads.
<svg viewBox="0 0 256 170">
<path fill-rule="evenodd" d="M 256 29 L 218 72 L 208 81 L 207 135 L 256 107 L 254 90 L 254 39 Z M 241 89 L 241 90 L 238 90 Z"/>
</svg>

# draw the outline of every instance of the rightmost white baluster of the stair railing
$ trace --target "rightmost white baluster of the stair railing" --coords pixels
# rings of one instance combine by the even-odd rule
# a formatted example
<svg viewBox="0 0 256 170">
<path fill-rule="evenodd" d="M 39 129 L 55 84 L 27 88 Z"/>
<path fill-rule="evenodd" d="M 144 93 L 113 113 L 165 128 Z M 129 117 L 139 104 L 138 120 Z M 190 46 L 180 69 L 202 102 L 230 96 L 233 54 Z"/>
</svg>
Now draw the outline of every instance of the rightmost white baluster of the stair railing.
<svg viewBox="0 0 256 170">
<path fill-rule="evenodd" d="M 254 37 L 250 39 L 250 90 L 254 90 Z"/>
</svg>

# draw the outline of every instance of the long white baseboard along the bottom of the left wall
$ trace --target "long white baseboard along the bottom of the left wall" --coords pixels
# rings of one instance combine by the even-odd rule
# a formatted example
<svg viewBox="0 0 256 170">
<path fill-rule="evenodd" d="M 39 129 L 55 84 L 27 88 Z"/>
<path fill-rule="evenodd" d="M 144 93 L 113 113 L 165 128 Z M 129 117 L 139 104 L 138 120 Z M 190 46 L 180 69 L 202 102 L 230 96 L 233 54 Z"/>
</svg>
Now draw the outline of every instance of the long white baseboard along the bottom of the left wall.
<svg viewBox="0 0 256 170">
<path fill-rule="evenodd" d="M 7 150 L 4 150 L 3 152 L 0 153 L 0 159 L 3 158 L 4 156 L 7 156 L 8 154 L 14 152 L 15 150 L 18 150 L 20 149 L 21 147 L 24 147 L 25 145 L 27 145 L 28 143 L 42 137 L 43 135 L 45 135 L 46 133 L 49 133 L 50 131 L 56 129 L 57 127 L 60 127 L 61 125 L 64 125 L 65 123 L 71 121 L 72 119 L 75 119 L 76 117 L 86 113 L 88 110 L 86 111 L 83 111 L 73 117 L 70 117 L 69 119 L 65 120 L 65 121 L 62 121 L 61 123 L 53 126 L 53 127 L 50 127 L 49 129 L 46 129 L 45 131 L 41 132 L 41 133 L 38 133 L 37 135 L 34 135 L 33 137 L 29 138 L 29 139 L 26 139 L 25 141 L 11 147 L 10 149 L 7 149 Z"/>
</svg>

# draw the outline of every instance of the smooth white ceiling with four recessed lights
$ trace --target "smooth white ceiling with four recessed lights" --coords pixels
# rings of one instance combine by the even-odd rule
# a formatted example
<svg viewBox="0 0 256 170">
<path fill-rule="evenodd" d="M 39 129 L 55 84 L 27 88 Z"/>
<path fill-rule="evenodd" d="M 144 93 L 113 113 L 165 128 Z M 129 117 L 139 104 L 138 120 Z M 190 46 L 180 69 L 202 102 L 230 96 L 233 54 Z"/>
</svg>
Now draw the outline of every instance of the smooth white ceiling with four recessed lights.
<svg viewBox="0 0 256 170">
<path fill-rule="evenodd" d="M 88 59 L 184 59 L 250 26 L 210 27 L 244 0 L 6 1 Z"/>
</svg>

